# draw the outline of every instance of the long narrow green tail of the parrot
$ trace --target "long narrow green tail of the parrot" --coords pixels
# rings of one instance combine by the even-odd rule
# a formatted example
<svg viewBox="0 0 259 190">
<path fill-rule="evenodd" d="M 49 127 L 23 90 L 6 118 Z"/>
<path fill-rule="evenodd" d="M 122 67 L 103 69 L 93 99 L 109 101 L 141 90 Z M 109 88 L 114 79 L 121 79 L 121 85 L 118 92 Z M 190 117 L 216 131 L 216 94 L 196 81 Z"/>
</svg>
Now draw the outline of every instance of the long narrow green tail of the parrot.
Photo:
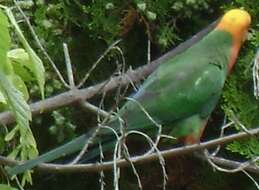
<svg viewBox="0 0 259 190">
<path fill-rule="evenodd" d="M 109 122 L 109 126 L 115 128 L 115 130 L 117 125 L 117 120 Z M 42 154 L 35 159 L 28 160 L 21 165 L 8 168 L 7 172 L 9 175 L 23 173 L 24 171 L 29 170 L 41 163 L 51 162 L 58 158 L 76 153 L 82 150 L 87 143 L 90 143 L 89 145 L 91 147 L 89 151 L 87 151 L 86 154 L 83 155 L 82 159 L 79 160 L 79 163 L 88 162 L 89 160 L 97 158 L 100 155 L 100 149 L 98 146 L 99 143 L 102 144 L 103 152 L 107 152 L 108 150 L 112 149 L 112 147 L 114 147 L 115 143 L 113 141 L 114 136 L 110 130 L 105 128 L 99 128 L 98 130 L 98 128 L 95 127 L 86 134 L 83 134 L 62 146 L 50 150 L 49 152 L 46 152 L 45 154 Z"/>
</svg>

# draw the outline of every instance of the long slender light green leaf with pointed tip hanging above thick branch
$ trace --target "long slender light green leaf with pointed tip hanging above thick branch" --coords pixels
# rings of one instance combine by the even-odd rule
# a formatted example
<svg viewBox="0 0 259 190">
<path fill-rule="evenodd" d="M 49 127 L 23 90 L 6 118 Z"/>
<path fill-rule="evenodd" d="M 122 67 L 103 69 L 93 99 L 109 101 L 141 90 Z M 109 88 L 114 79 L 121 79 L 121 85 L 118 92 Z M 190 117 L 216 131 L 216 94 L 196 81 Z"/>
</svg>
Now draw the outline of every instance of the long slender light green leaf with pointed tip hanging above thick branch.
<svg viewBox="0 0 259 190">
<path fill-rule="evenodd" d="M 26 52 L 29 55 L 30 61 L 32 63 L 31 70 L 32 70 L 33 74 L 36 76 L 38 85 L 40 87 L 41 96 L 42 96 L 42 98 L 44 98 L 44 84 L 45 84 L 44 73 L 45 73 L 45 69 L 44 69 L 43 63 L 42 63 L 41 59 L 37 56 L 37 54 L 34 52 L 34 50 L 31 48 L 29 43 L 27 42 L 27 40 L 24 37 L 24 35 L 22 33 L 22 30 L 20 29 L 19 25 L 17 24 L 11 10 L 7 9 L 6 13 L 7 13 L 12 25 L 15 28 L 15 31 L 17 33 L 17 36 L 18 36 L 19 40 L 21 41 L 23 47 L 25 48 Z"/>
</svg>

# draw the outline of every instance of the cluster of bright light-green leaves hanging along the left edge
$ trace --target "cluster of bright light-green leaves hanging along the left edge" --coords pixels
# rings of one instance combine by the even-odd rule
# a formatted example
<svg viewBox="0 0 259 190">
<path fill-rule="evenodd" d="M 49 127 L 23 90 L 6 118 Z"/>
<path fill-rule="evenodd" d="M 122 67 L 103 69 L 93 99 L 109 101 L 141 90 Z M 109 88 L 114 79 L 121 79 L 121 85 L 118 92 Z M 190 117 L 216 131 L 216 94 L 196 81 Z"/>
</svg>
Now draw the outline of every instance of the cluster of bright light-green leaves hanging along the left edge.
<svg viewBox="0 0 259 190">
<path fill-rule="evenodd" d="M 20 75 L 20 69 L 23 67 L 26 67 L 27 69 L 32 68 L 31 73 L 33 76 L 36 79 L 41 79 L 38 80 L 38 82 L 43 95 L 44 68 L 40 59 L 24 38 L 11 10 L 8 8 L 5 8 L 4 10 L 10 22 L 14 26 L 15 31 L 18 33 L 21 44 L 26 50 L 19 51 L 20 54 L 17 50 L 9 51 L 12 44 L 8 31 L 8 18 L 4 15 L 3 11 L 0 10 L 0 107 L 2 111 L 10 110 L 14 114 L 17 122 L 16 126 L 11 131 L 6 133 L 4 139 L 6 142 L 10 142 L 11 140 L 14 140 L 17 135 L 19 135 L 19 144 L 13 147 L 9 157 L 13 159 L 27 160 L 35 158 L 38 155 L 38 150 L 36 141 L 29 126 L 31 111 L 26 102 L 29 98 L 29 94 L 23 80 L 24 76 Z M 20 64 L 17 64 L 17 62 Z M 26 62 L 29 62 L 29 66 L 25 66 L 28 64 Z M 40 66 L 43 69 L 34 69 Z M 27 76 L 27 78 L 30 77 Z M 23 176 L 22 183 L 25 184 L 26 181 L 31 182 L 29 172 L 26 172 Z"/>
</svg>

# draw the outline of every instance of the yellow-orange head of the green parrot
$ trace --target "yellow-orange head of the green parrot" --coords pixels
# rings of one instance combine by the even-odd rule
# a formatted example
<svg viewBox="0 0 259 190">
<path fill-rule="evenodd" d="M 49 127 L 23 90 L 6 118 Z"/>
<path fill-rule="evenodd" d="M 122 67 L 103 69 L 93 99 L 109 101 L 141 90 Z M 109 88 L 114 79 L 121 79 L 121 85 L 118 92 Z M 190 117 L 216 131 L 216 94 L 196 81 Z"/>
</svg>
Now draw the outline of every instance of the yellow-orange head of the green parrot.
<svg viewBox="0 0 259 190">
<path fill-rule="evenodd" d="M 216 29 L 229 32 L 235 43 L 242 44 L 246 39 L 250 24 L 251 16 L 248 12 L 241 9 L 232 9 L 221 18 Z"/>
</svg>

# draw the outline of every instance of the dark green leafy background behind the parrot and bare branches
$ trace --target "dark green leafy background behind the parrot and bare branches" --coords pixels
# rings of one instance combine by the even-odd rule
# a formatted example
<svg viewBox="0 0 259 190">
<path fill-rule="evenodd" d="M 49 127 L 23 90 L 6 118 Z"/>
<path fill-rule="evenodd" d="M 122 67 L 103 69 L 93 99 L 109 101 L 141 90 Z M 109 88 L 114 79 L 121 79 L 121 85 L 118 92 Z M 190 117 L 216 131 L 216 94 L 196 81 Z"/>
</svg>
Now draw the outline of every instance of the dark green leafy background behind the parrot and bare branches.
<svg viewBox="0 0 259 190">
<path fill-rule="evenodd" d="M 4 2 L 12 5 L 12 2 Z M 92 63 L 104 52 L 106 47 L 118 38 L 123 49 L 126 63 L 133 68 L 147 62 L 147 43 L 151 41 L 151 57 L 155 59 L 164 52 L 183 42 L 217 19 L 230 8 L 244 8 L 252 18 L 253 24 L 249 39 L 245 43 L 231 77 L 220 100 L 218 108 L 210 119 L 204 140 L 217 137 L 219 127 L 226 116 L 236 117 L 247 127 L 253 128 L 259 123 L 258 101 L 253 97 L 251 61 L 259 44 L 259 1 L 252 0 L 34 0 L 20 3 L 39 36 L 42 44 L 54 59 L 65 76 L 65 63 L 62 43 L 68 43 L 75 72 L 79 81 L 91 67 Z M 16 13 L 17 18 L 21 18 Z M 26 24 L 21 23 L 27 39 L 32 39 Z M 33 44 L 34 41 L 32 40 Z M 37 50 L 36 44 L 33 44 Z M 47 63 L 42 52 L 38 52 Z M 85 86 L 106 79 L 113 73 L 116 55 L 109 54 L 91 75 Z M 45 64 L 46 96 L 51 96 L 66 89 L 62 86 L 53 70 Z M 29 85 L 30 101 L 40 96 L 35 83 Z M 107 105 L 112 96 L 107 96 Z M 93 100 L 98 105 L 99 99 Z M 108 109 L 108 108 L 106 108 Z M 85 126 L 87 123 L 87 126 Z M 63 144 L 77 134 L 83 133 L 86 127 L 96 124 L 96 116 L 78 107 L 56 110 L 33 119 L 32 131 L 40 152 L 51 149 L 54 145 Z M 240 130 L 238 126 L 227 132 Z M 47 140 L 46 140 L 47 139 Z M 256 138 L 233 142 L 221 153 L 233 159 L 243 160 L 259 154 L 259 142 Z M 206 163 L 185 157 L 179 160 L 168 160 L 168 189 L 253 189 L 253 184 L 242 174 L 222 174 L 213 172 Z M 159 166 L 152 164 L 138 167 L 146 189 L 161 188 L 162 179 Z M 112 189 L 112 173 L 106 173 L 107 189 Z M 191 177 L 190 177 L 191 176 Z M 96 174 L 36 174 L 34 185 L 27 189 L 99 189 Z M 3 178 L 4 180 L 5 178 Z M 150 185 L 151 184 L 151 185 Z M 123 170 L 122 189 L 137 189 L 137 182 L 130 170 Z"/>
</svg>

